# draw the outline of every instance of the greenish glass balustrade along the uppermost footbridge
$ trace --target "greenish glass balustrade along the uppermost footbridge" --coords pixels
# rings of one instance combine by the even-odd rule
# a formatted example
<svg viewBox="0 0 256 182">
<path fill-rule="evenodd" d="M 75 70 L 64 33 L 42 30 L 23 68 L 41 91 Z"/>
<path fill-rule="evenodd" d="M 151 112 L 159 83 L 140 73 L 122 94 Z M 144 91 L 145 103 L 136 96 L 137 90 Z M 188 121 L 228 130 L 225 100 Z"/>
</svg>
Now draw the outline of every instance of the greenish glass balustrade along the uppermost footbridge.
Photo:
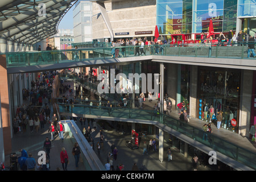
<svg viewBox="0 0 256 182">
<path fill-rule="evenodd" d="M 187 57 L 220 57 L 230 59 L 254 59 L 247 58 L 249 44 L 233 44 L 233 46 L 221 46 L 219 43 L 203 44 L 164 44 L 143 46 L 146 55 L 163 55 L 163 56 L 187 56 Z M 98 46 L 98 47 L 97 47 Z M 135 57 L 135 53 L 141 52 L 141 46 L 124 46 L 124 47 L 105 47 L 97 44 L 96 47 L 65 49 L 55 51 L 27 51 L 27 52 L 6 52 L 8 67 L 24 67 L 28 65 L 44 65 L 67 63 L 70 61 L 90 61 L 112 59 L 114 49 L 119 49 L 120 57 Z M 144 54 L 143 54 L 144 56 Z M 106 62 L 107 63 L 107 62 Z"/>
</svg>

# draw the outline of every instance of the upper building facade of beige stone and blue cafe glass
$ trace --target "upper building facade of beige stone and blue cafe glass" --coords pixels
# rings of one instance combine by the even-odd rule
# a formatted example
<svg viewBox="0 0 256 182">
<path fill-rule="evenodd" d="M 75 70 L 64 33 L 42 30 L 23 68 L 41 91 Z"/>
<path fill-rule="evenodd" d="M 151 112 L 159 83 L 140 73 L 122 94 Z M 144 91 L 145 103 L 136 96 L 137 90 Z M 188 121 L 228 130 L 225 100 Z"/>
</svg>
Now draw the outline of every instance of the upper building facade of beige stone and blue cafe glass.
<svg viewBox="0 0 256 182">
<path fill-rule="evenodd" d="M 135 38 L 154 36 L 155 26 L 166 39 L 172 36 L 186 40 L 199 39 L 207 32 L 210 20 L 214 32 L 224 34 L 240 30 L 255 35 L 255 1 L 240 0 L 152 0 L 152 1 L 93 1 L 93 39 Z M 104 3 L 109 25 L 104 24 L 100 11 Z M 100 14 L 101 13 L 101 14 Z M 143 17 L 143 18 L 142 18 Z M 106 22 L 108 22 L 106 21 Z M 110 30 L 109 28 L 112 28 Z"/>
</svg>

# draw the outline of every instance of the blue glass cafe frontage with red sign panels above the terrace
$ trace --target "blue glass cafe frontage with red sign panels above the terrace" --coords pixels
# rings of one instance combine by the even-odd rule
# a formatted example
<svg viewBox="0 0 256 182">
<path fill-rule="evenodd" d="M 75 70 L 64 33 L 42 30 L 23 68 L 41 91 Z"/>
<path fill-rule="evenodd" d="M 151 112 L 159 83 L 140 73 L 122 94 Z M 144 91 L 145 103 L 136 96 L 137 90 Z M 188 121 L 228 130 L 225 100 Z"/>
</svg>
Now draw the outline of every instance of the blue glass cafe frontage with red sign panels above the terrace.
<svg viewBox="0 0 256 182">
<path fill-rule="evenodd" d="M 249 5 L 250 10 L 255 6 L 253 3 Z M 245 6 L 242 7 L 240 11 L 245 11 Z M 156 1 L 156 24 L 160 35 L 207 32 L 210 19 L 214 32 L 236 30 L 237 0 Z"/>
</svg>

